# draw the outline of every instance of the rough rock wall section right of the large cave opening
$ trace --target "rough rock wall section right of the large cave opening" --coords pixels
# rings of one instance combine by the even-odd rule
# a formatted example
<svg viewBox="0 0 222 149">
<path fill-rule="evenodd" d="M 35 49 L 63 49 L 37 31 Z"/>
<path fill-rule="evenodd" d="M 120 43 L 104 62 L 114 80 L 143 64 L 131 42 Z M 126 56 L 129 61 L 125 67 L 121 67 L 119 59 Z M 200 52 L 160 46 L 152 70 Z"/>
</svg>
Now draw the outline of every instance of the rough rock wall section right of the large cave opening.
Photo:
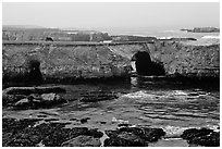
<svg viewBox="0 0 222 149">
<path fill-rule="evenodd" d="M 147 44 L 150 55 L 162 62 L 166 76 L 220 77 L 220 44 L 160 41 Z"/>
</svg>

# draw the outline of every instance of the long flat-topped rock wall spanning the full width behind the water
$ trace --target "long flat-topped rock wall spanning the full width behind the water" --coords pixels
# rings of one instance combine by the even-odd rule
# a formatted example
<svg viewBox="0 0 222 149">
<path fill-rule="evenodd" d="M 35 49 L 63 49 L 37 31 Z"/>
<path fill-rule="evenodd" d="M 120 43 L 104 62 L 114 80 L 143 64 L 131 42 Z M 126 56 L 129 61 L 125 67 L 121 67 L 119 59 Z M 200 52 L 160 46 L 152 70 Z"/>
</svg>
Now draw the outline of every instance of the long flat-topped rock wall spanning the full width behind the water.
<svg viewBox="0 0 222 149">
<path fill-rule="evenodd" d="M 150 62 L 143 64 L 147 65 L 144 70 L 149 75 L 220 76 L 219 41 L 3 42 L 2 48 L 3 82 L 27 83 L 32 78 L 38 84 L 40 80 L 75 83 L 82 79 L 128 78 L 131 62 L 138 52 L 146 52 L 150 57 Z M 140 66 L 137 65 L 137 69 Z M 30 77 L 35 74 L 38 77 Z"/>
</svg>

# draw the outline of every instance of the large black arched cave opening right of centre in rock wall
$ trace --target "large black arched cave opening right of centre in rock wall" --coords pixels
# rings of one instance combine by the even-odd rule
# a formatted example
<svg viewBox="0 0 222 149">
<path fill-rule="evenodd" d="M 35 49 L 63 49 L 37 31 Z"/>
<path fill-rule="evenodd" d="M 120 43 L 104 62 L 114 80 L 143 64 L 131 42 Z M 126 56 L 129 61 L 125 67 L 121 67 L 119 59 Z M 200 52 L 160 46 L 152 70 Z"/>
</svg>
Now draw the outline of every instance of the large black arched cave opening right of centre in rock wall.
<svg viewBox="0 0 222 149">
<path fill-rule="evenodd" d="M 148 52 L 138 51 L 132 58 L 132 61 L 135 61 L 135 69 L 138 75 L 146 76 L 162 76 L 165 75 L 163 65 L 158 62 L 152 62 Z"/>
</svg>

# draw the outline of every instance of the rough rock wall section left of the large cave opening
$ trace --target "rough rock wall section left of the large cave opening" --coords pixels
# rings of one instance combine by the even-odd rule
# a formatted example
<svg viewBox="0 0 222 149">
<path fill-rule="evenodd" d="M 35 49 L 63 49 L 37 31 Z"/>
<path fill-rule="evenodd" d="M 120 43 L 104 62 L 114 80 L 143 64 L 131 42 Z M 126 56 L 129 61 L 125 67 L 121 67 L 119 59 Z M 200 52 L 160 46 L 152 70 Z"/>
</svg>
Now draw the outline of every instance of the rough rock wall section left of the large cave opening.
<svg viewBox="0 0 222 149">
<path fill-rule="evenodd" d="M 139 45 L 128 47 L 140 48 Z M 27 82 L 32 60 L 40 63 L 44 82 L 51 83 L 128 77 L 131 70 L 131 60 L 112 52 L 106 45 L 5 45 L 3 80 Z"/>
</svg>

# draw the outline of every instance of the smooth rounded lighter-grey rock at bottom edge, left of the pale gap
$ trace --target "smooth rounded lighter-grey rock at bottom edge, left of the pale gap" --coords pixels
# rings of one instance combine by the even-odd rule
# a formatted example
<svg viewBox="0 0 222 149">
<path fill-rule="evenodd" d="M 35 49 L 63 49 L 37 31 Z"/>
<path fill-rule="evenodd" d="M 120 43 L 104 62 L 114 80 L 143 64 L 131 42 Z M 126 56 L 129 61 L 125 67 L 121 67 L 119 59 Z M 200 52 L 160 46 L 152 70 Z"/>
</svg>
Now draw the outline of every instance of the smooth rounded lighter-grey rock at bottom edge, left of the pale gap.
<svg viewBox="0 0 222 149">
<path fill-rule="evenodd" d="M 62 147 L 100 147 L 98 138 L 91 136 L 78 136 L 62 144 Z"/>
</svg>

